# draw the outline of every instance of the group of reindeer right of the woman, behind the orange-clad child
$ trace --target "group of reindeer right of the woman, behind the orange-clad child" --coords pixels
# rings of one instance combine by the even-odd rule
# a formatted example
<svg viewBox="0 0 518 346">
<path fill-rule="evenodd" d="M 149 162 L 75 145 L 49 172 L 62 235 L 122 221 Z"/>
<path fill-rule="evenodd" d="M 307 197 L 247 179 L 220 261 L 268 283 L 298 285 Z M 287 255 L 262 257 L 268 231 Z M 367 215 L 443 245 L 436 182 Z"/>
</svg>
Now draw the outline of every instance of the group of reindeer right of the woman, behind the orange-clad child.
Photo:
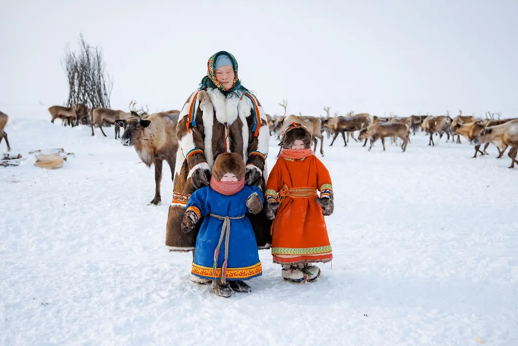
<svg viewBox="0 0 518 346">
<path fill-rule="evenodd" d="M 313 152 L 316 153 L 317 140 L 320 139 L 320 154 L 324 156 L 323 139 L 324 133 L 327 138 L 333 137 L 329 146 L 335 143 L 338 135 L 342 135 L 343 144 L 347 146 L 349 137 L 357 142 L 364 142 L 363 146 L 370 141 L 368 151 L 371 150 L 372 145 L 381 140 L 383 151 L 385 151 L 385 139 L 390 138 L 391 143 L 397 144 L 399 138 L 401 143 L 401 150 L 405 151 L 408 143 L 410 143 L 410 134 L 415 135 L 416 132 L 423 131 L 429 136 L 429 146 L 435 146 L 434 135 L 438 135 L 439 139 L 442 136 L 447 137 L 447 142 L 454 142 L 457 136 L 456 143 L 461 143 L 461 136 L 474 144 L 475 153 L 473 158 L 477 158 L 478 154 L 488 155 L 487 147 L 490 144 L 496 146 L 498 150 L 498 158 L 501 158 L 506 149 L 510 147 L 508 156 L 511 158 L 511 165 L 509 168 L 514 168 L 514 164 L 518 163 L 516 155 L 518 152 L 518 118 L 500 119 L 501 113 L 497 114 L 498 119 L 495 119 L 495 113 L 486 113 L 486 118 L 476 118 L 474 116 L 463 116 L 462 110 L 459 110 L 459 115 L 455 118 L 450 117 L 450 113 L 446 115 L 431 116 L 431 115 L 411 115 L 408 117 L 378 117 L 367 113 L 354 114 L 349 112 L 346 116 L 339 116 L 338 112 L 335 116 L 329 115 L 330 107 L 324 107 L 326 116 L 311 117 L 299 115 L 286 116 L 287 101 L 283 100 L 279 103 L 284 108 L 282 116 L 269 116 L 268 125 L 270 127 L 270 135 L 280 139 L 283 129 L 293 121 L 304 124 L 309 132 L 312 134 L 314 142 Z M 357 139 L 354 137 L 354 132 L 359 131 Z M 483 150 L 480 146 L 484 145 Z"/>
</svg>

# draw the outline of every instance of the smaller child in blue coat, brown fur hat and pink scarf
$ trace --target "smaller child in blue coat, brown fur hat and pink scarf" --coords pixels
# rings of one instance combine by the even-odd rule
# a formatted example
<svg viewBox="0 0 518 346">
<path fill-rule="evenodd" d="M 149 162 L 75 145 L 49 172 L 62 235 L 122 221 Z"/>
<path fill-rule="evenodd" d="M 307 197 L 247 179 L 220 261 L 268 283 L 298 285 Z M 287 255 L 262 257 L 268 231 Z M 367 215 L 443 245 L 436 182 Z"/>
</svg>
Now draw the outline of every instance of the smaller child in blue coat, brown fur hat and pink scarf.
<svg viewBox="0 0 518 346">
<path fill-rule="evenodd" d="M 230 297 L 234 291 L 251 292 L 243 280 L 263 273 L 246 216 L 263 209 L 263 193 L 257 186 L 244 185 L 244 173 L 239 154 L 220 154 L 212 167 L 210 186 L 191 195 L 181 224 L 183 232 L 190 232 L 205 216 L 196 238 L 191 273 L 212 280 L 212 290 L 221 297 Z"/>
</svg>

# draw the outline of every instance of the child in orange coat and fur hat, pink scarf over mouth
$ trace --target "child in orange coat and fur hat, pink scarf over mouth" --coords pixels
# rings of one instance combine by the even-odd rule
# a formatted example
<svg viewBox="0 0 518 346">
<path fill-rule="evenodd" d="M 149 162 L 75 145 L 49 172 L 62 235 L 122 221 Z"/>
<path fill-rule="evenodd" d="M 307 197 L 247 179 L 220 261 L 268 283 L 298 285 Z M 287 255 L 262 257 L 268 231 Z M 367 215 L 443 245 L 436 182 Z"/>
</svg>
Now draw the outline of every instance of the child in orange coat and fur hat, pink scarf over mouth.
<svg viewBox="0 0 518 346">
<path fill-rule="evenodd" d="M 312 282 L 320 276 L 313 262 L 333 259 L 324 220 L 334 209 L 331 177 L 313 155 L 311 134 L 301 124 L 290 124 L 280 145 L 265 192 L 266 215 L 274 220 L 271 254 L 284 280 Z"/>
</svg>

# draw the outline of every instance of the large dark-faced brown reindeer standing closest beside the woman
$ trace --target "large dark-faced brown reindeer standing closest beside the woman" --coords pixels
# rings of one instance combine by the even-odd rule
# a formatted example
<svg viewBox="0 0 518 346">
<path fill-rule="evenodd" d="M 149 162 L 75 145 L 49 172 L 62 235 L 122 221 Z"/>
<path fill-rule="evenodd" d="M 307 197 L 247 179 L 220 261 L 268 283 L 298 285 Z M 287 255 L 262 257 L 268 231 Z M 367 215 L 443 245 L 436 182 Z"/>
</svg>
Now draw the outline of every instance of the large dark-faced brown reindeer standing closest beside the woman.
<svg viewBox="0 0 518 346">
<path fill-rule="evenodd" d="M 171 178 L 175 177 L 178 137 L 176 127 L 178 119 L 172 114 L 156 113 L 142 119 L 132 116 L 128 119 L 116 119 L 119 127 L 124 128 L 121 143 L 133 146 L 138 157 L 149 168 L 155 167 L 155 197 L 149 204 L 160 204 L 160 182 L 162 181 L 162 163 L 166 160 L 171 169 Z"/>
</svg>

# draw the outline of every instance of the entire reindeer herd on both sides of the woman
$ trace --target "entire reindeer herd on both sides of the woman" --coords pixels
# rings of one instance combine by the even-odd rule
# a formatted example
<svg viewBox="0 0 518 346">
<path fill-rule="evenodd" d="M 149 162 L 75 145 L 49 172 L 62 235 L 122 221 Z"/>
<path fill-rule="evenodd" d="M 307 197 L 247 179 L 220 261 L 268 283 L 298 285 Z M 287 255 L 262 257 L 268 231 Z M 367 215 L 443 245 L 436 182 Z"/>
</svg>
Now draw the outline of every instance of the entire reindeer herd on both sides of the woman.
<svg viewBox="0 0 518 346">
<path fill-rule="evenodd" d="M 155 114 L 148 114 L 149 109 L 144 110 L 141 107 L 135 109 L 135 101 L 130 102 L 130 112 L 123 110 L 113 110 L 108 108 L 88 109 L 83 104 L 74 107 L 52 106 L 49 113 L 51 122 L 55 119 L 62 119 L 64 126 L 79 126 L 80 124 L 90 126 L 92 135 L 94 135 L 94 127 L 98 127 L 101 133 L 106 136 L 103 127 L 114 126 L 115 139 L 120 138 L 124 146 L 133 146 L 147 167 L 154 166 L 155 170 L 155 196 L 150 204 L 159 204 L 161 202 L 160 184 L 162 179 L 162 163 L 167 161 L 171 169 L 171 176 L 175 174 L 176 153 L 178 151 L 178 139 L 176 136 L 176 127 L 178 123 L 179 110 L 169 110 Z M 446 115 L 430 116 L 430 115 L 411 115 L 408 117 L 378 117 L 367 113 L 354 114 L 349 112 L 346 116 L 329 115 L 330 107 L 324 107 L 326 116 L 303 116 L 287 115 L 287 101 L 279 104 L 284 108 L 282 116 L 270 116 L 268 118 L 268 126 L 270 135 L 280 140 L 283 130 L 292 122 L 303 124 L 311 133 L 314 142 L 313 152 L 316 153 L 316 146 L 320 140 L 320 154 L 324 156 L 324 133 L 327 139 L 333 137 L 329 146 L 335 143 L 338 135 L 343 138 L 343 145 L 347 147 L 350 137 L 355 141 L 364 142 L 363 146 L 370 141 L 368 151 L 372 145 L 381 140 L 383 151 L 385 150 L 385 139 L 389 138 L 391 143 L 397 145 L 399 138 L 401 150 L 405 151 L 408 143 L 410 143 L 410 134 L 415 135 L 416 132 L 423 131 L 429 135 L 428 145 L 435 146 L 434 135 L 439 135 L 439 139 L 443 135 L 447 136 L 447 142 L 454 142 L 457 136 L 457 143 L 461 143 L 460 137 L 463 136 L 470 144 L 474 144 L 473 158 L 477 158 L 478 154 L 488 155 L 486 149 L 488 145 L 493 144 L 498 149 L 498 158 L 501 158 L 506 149 L 510 147 L 508 156 L 511 158 L 509 168 L 514 168 L 514 164 L 518 163 L 516 155 L 518 153 L 518 118 L 512 119 L 495 119 L 495 114 L 486 113 L 485 119 L 478 119 L 473 116 L 463 116 L 459 110 L 459 115 L 454 119 L 447 112 Z M 7 140 L 7 133 L 4 131 L 8 116 L 0 112 L 0 143 L 5 139 L 7 150 L 10 150 Z M 124 129 L 122 136 L 120 128 Z M 357 139 L 354 132 L 358 132 Z M 482 144 L 484 148 L 481 150 Z M 280 150 L 279 150 L 280 154 Z M 277 156 L 279 155 L 277 154 Z"/>
</svg>

